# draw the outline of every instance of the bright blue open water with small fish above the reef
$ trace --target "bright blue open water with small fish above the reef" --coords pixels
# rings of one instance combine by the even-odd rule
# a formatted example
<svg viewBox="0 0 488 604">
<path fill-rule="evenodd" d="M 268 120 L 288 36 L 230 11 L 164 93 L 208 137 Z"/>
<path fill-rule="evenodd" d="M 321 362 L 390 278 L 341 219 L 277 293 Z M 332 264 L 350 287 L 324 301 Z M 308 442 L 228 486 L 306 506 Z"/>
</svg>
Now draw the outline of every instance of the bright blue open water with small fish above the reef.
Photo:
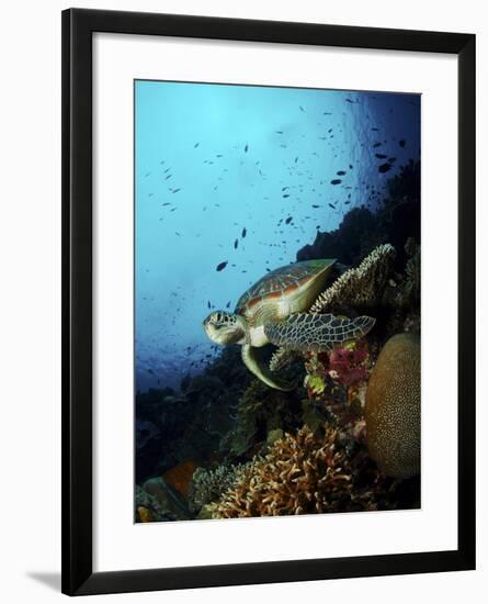
<svg viewBox="0 0 488 604">
<path fill-rule="evenodd" d="M 139 80 L 135 101 L 139 392 L 201 371 L 211 310 L 420 158 L 418 94 Z"/>
</svg>

